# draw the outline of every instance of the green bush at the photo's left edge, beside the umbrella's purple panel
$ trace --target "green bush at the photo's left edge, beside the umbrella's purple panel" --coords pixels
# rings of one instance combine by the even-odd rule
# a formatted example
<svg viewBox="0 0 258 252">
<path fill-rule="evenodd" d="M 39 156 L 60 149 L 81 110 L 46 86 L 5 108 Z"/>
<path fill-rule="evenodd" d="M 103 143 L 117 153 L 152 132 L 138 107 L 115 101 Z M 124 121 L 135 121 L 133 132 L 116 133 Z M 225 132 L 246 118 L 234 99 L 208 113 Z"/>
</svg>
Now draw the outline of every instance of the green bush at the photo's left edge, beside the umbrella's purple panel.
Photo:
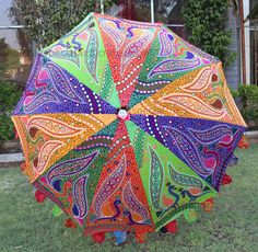
<svg viewBox="0 0 258 252">
<path fill-rule="evenodd" d="M 0 141 L 14 137 L 11 113 L 21 96 L 21 90 L 13 82 L 0 81 Z"/>
</svg>

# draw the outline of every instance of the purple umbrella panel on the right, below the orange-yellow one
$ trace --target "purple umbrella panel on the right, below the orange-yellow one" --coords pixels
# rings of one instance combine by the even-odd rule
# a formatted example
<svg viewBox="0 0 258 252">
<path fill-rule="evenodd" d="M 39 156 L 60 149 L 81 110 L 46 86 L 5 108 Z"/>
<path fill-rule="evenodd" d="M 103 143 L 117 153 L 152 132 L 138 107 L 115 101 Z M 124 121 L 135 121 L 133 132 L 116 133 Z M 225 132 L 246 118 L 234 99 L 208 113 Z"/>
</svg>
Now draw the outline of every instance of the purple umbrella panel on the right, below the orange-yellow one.
<svg viewBox="0 0 258 252">
<path fill-rule="evenodd" d="M 131 121 L 219 190 L 245 127 L 197 118 L 131 115 Z"/>
</svg>

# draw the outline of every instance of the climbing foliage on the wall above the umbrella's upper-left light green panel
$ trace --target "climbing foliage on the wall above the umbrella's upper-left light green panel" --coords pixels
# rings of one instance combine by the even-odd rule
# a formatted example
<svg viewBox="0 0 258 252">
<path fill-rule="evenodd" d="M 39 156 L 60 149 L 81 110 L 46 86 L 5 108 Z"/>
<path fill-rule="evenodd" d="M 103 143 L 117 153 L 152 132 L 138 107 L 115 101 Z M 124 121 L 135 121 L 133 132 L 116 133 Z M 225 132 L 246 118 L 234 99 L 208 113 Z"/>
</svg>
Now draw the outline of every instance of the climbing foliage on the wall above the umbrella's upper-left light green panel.
<svg viewBox="0 0 258 252">
<path fill-rule="evenodd" d="M 105 8 L 115 0 L 105 0 Z M 13 0 L 10 16 L 23 24 L 25 33 L 37 47 L 45 47 L 79 24 L 89 12 L 101 12 L 95 0 Z"/>
</svg>

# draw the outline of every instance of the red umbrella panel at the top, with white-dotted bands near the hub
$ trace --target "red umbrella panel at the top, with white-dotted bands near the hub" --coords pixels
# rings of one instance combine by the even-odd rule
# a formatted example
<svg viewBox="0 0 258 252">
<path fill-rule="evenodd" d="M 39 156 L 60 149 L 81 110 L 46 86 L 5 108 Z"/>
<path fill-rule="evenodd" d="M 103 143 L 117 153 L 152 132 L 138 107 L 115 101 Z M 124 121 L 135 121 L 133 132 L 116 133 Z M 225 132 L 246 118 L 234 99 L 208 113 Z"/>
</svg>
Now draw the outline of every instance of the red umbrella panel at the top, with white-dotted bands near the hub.
<svg viewBox="0 0 258 252">
<path fill-rule="evenodd" d="M 127 106 L 138 76 L 159 28 L 136 22 L 99 19 L 101 34 L 121 106 Z"/>
</svg>

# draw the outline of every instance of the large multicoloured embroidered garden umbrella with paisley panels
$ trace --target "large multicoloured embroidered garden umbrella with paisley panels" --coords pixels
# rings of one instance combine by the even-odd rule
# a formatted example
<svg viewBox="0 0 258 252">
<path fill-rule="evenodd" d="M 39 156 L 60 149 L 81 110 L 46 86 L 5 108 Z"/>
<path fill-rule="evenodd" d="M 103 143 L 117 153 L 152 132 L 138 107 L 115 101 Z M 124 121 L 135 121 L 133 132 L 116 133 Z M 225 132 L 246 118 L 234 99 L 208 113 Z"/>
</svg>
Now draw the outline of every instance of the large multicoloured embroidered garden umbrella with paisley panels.
<svg viewBox="0 0 258 252">
<path fill-rule="evenodd" d="M 210 207 L 245 130 L 216 58 L 96 13 L 38 53 L 12 118 L 39 195 L 84 234 L 139 241 Z"/>
</svg>

